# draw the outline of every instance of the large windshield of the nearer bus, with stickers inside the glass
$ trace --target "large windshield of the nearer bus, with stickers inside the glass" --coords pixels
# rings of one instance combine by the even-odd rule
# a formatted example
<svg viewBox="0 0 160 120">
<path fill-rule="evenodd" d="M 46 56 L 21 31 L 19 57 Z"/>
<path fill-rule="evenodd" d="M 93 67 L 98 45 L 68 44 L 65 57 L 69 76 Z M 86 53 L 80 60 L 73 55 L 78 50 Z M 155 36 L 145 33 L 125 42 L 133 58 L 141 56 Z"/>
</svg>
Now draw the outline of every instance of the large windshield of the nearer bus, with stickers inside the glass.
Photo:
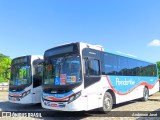
<svg viewBox="0 0 160 120">
<path fill-rule="evenodd" d="M 81 82 L 80 68 L 79 55 L 46 58 L 43 84 L 60 86 Z"/>
</svg>

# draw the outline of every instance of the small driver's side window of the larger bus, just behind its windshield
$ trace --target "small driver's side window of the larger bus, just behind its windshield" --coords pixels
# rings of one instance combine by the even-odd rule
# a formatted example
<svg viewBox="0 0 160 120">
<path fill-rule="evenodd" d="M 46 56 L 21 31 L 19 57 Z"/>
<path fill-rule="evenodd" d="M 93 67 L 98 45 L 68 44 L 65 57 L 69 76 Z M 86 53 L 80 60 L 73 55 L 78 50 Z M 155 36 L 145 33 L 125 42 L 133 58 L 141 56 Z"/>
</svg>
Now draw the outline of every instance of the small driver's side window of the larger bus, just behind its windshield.
<svg viewBox="0 0 160 120">
<path fill-rule="evenodd" d="M 100 63 L 99 60 L 90 59 L 89 60 L 89 75 L 99 76 L 100 75 Z"/>
</svg>

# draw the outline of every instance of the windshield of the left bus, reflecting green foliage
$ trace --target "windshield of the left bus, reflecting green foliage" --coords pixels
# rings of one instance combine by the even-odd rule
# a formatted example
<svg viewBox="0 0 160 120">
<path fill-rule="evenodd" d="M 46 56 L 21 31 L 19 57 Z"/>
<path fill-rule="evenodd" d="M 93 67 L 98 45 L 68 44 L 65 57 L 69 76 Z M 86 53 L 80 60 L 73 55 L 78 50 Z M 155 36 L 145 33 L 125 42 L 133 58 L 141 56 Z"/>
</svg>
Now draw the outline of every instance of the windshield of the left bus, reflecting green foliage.
<svg viewBox="0 0 160 120">
<path fill-rule="evenodd" d="M 31 83 L 31 66 L 13 65 L 11 69 L 10 85 L 21 86 Z"/>
</svg>

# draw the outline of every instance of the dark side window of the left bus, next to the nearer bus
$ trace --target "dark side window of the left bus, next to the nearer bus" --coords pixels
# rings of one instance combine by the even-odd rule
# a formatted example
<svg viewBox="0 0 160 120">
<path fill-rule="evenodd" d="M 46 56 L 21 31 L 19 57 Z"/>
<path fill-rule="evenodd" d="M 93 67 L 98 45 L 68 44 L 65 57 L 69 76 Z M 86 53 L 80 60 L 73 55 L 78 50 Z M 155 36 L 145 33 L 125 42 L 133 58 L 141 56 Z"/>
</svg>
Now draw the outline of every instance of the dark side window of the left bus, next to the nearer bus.
<svg viewBox="0 0 160 120">
<path fill-rule="evenodd" d="M 33 76 L 33 87 L 38 87 L 42 84 L 43 66 L 35 66 L 35 74 Z"/>
</svg>

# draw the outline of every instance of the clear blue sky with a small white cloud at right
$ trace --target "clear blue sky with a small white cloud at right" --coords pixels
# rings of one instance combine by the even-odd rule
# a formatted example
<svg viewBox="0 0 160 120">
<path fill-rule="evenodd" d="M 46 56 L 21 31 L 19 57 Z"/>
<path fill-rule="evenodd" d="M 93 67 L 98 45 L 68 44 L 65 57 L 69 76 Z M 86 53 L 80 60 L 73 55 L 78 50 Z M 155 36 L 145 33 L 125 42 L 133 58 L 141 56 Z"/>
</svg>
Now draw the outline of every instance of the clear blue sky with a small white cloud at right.
<svg viewBox="0 0 160 120">
<path fill-rule="evenodd" d="M 0 53 L 43 55 L 70 42 L 160 61 L 160 0 L 0 0 Z"/>
</svg>

